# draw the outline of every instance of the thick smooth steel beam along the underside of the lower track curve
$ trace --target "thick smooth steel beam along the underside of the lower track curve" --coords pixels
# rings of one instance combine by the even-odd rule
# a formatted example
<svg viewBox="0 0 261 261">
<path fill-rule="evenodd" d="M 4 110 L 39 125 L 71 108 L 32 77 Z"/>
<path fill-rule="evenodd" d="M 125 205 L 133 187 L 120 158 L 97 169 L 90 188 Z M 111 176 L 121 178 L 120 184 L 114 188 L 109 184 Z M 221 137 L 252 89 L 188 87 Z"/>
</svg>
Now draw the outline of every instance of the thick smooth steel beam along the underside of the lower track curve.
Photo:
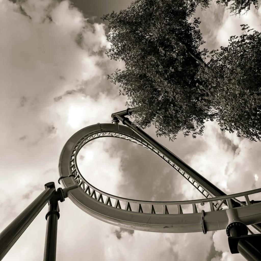
<svg viewBox="0 0 261 261">
<path fill-rule="evenodd" d="M 77 184 L 77 182 L 73 176 L 70 176 L 63 178 L 63 184 L 67 187 Z M 235 195 L 227 195 L 227 197 L 231 197 L 226 199 L 228 205 L 232 206 L 231 199 L 232 197 L 234 198 L 234 196 Z M 140 204 L 137 204 L 138 207 L 135 208 L 137 211 L 133 211 L 128 203 L 125 209 L 120 209 L 117 205 L 112 206 L 106 204 L 106 202 L 98 201 L 98 198 L 91 197 L 85 193 L 80 186 L 68 192 L 68 197 L 75 205 L 89 215 L 106 223 L 129 229 L 163 233 L 206 233 L 207 231 L 226 229 L 228 225 L 227 211 L 229 209 L 218 211 L 212 209 L 211 211 L 197 212 L 195 204 L 191 204 L 193 206 L 193 213 L 183 214 L 181 205 L 177 204 L 176 213 L 166 211 L 168 205 L 163 206 L 163 212 L 161 212 L 161 214 L 151 211 L 153 209 L 152 207 L 150 207 L 149 213 L 145 213 L 140 211 L 140 207 L 144 207 L 140 206 Z M 212 200 L 217 199 L 213 198 Z M 236 207 L 233 208 L 233 210 L 236 211 L 238 218 L 244 224 L 251 225 L 256 222 L 261 222 L 260 206 L 261 203 L 257 203 L 244 207 Z"/>
</svg>

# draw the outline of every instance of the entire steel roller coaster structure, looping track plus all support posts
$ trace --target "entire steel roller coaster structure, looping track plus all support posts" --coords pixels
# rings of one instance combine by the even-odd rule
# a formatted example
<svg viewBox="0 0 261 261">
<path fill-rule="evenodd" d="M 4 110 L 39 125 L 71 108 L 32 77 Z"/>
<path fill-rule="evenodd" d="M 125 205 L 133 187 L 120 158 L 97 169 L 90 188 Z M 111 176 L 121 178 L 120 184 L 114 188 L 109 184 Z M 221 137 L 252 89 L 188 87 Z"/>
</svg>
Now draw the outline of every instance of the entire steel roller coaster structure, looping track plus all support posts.
<svg viewBox="0 0 261 261">
<path fill-rule="evenodd" d="M 231 253 L 241 253 L 247 260 L 261 260 L 261 234 L 254 234 L 247 226 L 252 225 L 261 233 L 261 201 L 250 201 L 249 195 L 261 192 L 261 188 L 226 195 L 223 191 L 189 167 L 180 158 L 125 116 L 136 108 L 112 114 L 112 123 L 97 123 L 76 132 L 64 145 L 58 164 L 63 188 L 54 182 L 45 184 L 39 195 L 1 234 L 0 260 L 48 202 L 47 229 L 44 261 L 56 260 L 57 221 L 60 216 L 58 200 L 69 197 L 73 203 L 89 215 L 101 221 L 129 229 L 163 232 L 190 233 L 226 229 Z M 119 125 L 119 122 L 123 125 Z M 125 126 L 124 126 L 125 125 Z M 88 142 L 114 137 L 129 140 L 161 157 L 175 171 L 197 189 L 204 199 L 187 201 L 144 201 L 111 195 L 92 186 L 80 173 L 77 155 Z M 244 198 L 244 201 L 239 198 Z M 190 206 L 191 213 L 183 213 Z M 199 211 L 200 206 L 205 210 Z"/>
</svg>

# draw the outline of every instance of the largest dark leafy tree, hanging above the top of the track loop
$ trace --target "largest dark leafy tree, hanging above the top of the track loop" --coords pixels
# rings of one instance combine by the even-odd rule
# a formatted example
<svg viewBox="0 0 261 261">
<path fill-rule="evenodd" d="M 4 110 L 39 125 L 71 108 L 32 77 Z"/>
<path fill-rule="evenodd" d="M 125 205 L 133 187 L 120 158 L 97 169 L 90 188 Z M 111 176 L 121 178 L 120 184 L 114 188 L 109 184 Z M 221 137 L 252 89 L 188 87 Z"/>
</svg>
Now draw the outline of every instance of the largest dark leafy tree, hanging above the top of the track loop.
<svg viewBox="0 0 261 261">
<path fill-rule="evenodd" d="M 199 51 L 204 43 L 199 18 L 188 22 L 194 11 L 195 4 L 183 0 L 136 0 L 127 10 L 103 16 L 110 29 L 106 54 L 125 62 L 125 70 L 108 78 L 120 83 L 129 106 L 139 106 L 135 124 L 152 123 L 157 135 L 171 140 L 180 131 L 202 135 L 204 122 L 215 116 L 210 93 L 196 85 L 203 84 L 195 78 L 199 67 L 209 67 L 201 58 L 206 49 Z"/>
</svg>

